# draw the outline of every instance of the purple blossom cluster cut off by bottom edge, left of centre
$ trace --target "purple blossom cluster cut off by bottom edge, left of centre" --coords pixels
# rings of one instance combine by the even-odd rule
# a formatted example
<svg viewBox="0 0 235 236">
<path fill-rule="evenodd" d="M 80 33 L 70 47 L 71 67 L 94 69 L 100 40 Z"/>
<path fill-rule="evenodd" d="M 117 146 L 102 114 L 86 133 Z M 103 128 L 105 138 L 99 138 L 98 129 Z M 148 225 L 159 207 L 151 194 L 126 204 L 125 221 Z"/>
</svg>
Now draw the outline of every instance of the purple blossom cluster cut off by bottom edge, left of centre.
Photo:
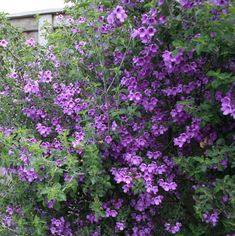
<svg viewBox="0 0 235 236">
<path fill-rule="evenodd" d="M 72 230 L 70 223 L 65 222 L 64 217 L 60 219 L 53 218 L 51 219 L 50 232 L 52 235 L 56 236 L 72 236 Z"/>
</svg>

